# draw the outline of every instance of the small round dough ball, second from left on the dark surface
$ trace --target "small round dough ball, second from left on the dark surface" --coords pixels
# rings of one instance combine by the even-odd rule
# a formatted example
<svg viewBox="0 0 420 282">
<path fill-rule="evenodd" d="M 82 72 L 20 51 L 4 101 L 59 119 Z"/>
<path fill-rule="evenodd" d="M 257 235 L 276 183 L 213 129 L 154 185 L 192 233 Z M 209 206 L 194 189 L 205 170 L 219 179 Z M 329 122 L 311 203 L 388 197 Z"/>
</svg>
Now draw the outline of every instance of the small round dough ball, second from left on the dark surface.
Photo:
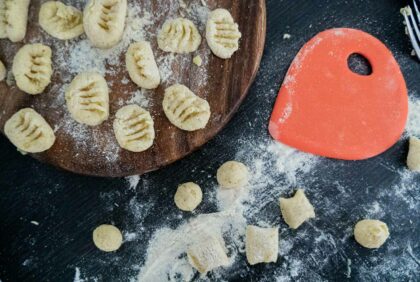
<svg viewBox="0 0 420 282">
<path fill-rule="evenodd" d="M 175 204 L 183 211 L 193 211 L 201 203 L 203 193 L 200 186 L 193 182 L 181 184 L 175 193 Z"/>
</svg>

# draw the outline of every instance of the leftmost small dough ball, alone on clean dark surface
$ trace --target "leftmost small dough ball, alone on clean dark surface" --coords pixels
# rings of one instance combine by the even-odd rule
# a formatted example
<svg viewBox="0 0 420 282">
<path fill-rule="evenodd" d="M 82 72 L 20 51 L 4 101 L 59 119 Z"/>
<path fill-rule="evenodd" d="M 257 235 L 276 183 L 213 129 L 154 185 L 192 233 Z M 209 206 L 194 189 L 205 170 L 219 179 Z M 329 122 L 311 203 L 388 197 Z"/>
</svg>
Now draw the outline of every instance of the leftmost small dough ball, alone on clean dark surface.
<svg viewBox="0 0 420 282">
<path fill-rule="evenodd" d="M 118 250 L 122 244 L 121 231 L 109 224 L 102 224 L 93 231 L 93 243 L 104 252 L 113 252 Z"/>
</svg>

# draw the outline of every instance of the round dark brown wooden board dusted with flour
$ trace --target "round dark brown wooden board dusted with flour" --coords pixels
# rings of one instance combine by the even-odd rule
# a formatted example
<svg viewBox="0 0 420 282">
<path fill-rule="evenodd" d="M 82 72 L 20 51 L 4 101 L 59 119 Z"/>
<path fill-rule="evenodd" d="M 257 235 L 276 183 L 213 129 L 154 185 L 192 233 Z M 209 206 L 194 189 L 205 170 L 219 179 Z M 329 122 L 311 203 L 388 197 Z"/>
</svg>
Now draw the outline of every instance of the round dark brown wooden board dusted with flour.
<svg viewBox="0 0 420 282">
<path fill-rule="evenodd" d="M 69 42 L 46 34 L 38 24 L 40 5 L 32 1 L 28 32 L 23 42 L 0 41 L 0 59 L 7 69 L 13 57 L 26 43 L 44 43 L 53 50 L 53 80 L 41 95 L 20 91 L 15 83 L 0 83 L 0 127 L 16 111 L 32 107 L 55 129 L 56 143 L 41 154 L 32 156 L 63 169 L 97 176 L 142 174 L 170 164 L 196 150 L 214 137 L 230 120 L 254 80 L 264 48 L 266 34 L 265 0 L 191 0 L 153 1 L 128 0 L 126 31 L 122 42 L 110 51 L 91 48 L 85 36 Z M 83 9 L 85 1 L 67 1 Z M 204 4 L 204 5 L 203 5 Z M 214 56 L 205 40 L 206 15 L 215 8 L 228 9 L 242 32 L 240 50 L 229 60 Z M 156 35 L 166 19 L 184 16 L 193 20 L 203 37 L 197 52 L 170 54 L 157 47 Z M 151 42 L 161 70 L 162 83 L 153 91 L 140 91 L 129 79 L 124 56 L 130 42 L 145 39 Z M 203 65 L 192 63 L 200 55 Z M 65 105 L 64 93 L 74 76 L 85 70 L 103 73 L 110 87 L 110 117 L 102 125 L 88 127 L 73 121 Z M 182 83 L 205 98 L 212 115 L 207 127 L 185 132 L 171 125 L 162 110 L 166 87 Z M 156 139 L 152 148 L 132 153 L 119 148 L 112 122 L 123 105 L 137 103 L 147 108 L 155 122 Z"/>
</svg>

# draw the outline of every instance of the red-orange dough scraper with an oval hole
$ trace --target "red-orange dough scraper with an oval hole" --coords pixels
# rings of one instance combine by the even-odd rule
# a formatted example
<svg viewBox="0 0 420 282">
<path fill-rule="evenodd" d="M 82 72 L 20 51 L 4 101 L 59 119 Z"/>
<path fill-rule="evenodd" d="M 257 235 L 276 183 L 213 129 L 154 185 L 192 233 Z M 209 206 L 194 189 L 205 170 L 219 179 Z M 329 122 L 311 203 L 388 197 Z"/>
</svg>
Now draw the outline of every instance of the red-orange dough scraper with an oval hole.
<svg viewBox="0 0 420 282">
<path fill-rule="evenodd" d="M 370 75 L 349 69 L 352 54 L 370 62 Z M 390 50 L 363 31 L 330 29 L 312 38 L 294 59 L 269 131 L 301 151 L 360 160 L 394 145 L 407 114 L 406 84 Z"/>
</svg>

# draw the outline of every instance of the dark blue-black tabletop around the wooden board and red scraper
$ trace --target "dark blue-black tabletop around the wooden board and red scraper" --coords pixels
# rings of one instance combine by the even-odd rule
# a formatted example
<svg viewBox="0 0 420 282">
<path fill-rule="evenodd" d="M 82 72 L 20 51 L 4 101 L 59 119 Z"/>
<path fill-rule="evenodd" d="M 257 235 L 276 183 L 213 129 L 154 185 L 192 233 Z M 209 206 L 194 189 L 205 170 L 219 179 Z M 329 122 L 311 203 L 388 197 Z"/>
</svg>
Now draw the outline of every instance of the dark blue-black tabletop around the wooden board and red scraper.
<svg viewBox="0 0 420 282">
<path fill-rule="evenodd" d="M 194 179 L 203 187 L 206 198 L 206 189 L 213 183 L 208 175 L 213 174 L 220 163 L 235 156 L 240 140 L 267 138 L 267 121 L 288 65 L 300 46 L 319 31 L 353 27 L 381 39 L 401 64 L 410 95 L 419 98 L 420 64 L 410 57 L 411 47 L 399 14 L 401 5 L 394 0 L 269 0 L 262 67 L 239 112 L 226 129 L 200 151 L 142 177 L 136 191 L 128 190 L 124 179 L 99 179 L 58 171 L 21 156 L 0 137 L 0 279 L 73 281 L 75 267 L 81 267 L 83 278 L 87 280 L 127 281 L 134 277 L 138 271 L 133 266 L 143 264 L 147 242 L 155 228 L 176 227 L 183 221 L 173 205 L 176 184 Z M 284 33 L 290 33 L 292 38 L 283 40 Z M 299 231 L 307 236 L 296 240 L 293 251 L 304 254 L 307 260 L 303 259 L 305 267 L 291 280 L 343 281 L 347 273 L 346 260 L 351 259 L 352 273 L 348 280 L 420 281 L 420 178 L 417 177 L 415 189 L 406 194 L 417 203 L 417 209 L 409 208 L 401 199 L 387 197 L 386 193 L 380 198 L 377 196 L 400 183 L 397 170 L 404 167 L 406 154 L 407 142 L 402 139 L 386 153 L 370 160 L 323 160 L 305 176 L 306 180 L 301 180 L 311 187 L 309 195 L 317 195 L 315 205 L 319 212 L 313 224 L 318 229 L 342 236 L 341 227 L 351 227 L 362 216 L 362 207 L 375 199 L 385 211 L 382 219 L 390 226 L 391 238 L 376 251 L 361 248 L 351 238 L 337 241 L 336 246 L 322 245 L 322 242 L 314 242 L 311 226 L 304 226 Z M 345 200 L 334 188 L 337 180 L 345 189 Z M 149 183 L 154 183 L 153 187 L 149 187 Z M 140 221 L 133 216 L 133 200 L 143 208 L 152 203 Z M 339 205 L 339 208 L 328 213 L 328 205 Z M 295 233 L 287 230 L 278 219 L 275 200 L 266 208 L 269 217 L 276 217 L 281 226 L 280 237 L 293 237 Z M 199 212 L 215 210 L 216 206 L 208 202 L 199 208 Z M 40 225 L 31 224 L 31 220 Z M 103 222 L 113 222 L 124 231 L 138 233 L 139 237 L 124 244 L 116 254 L 101 253 L 91 242 L 91 231 Z M 407 244 L 411 246 L 410 253 L 407 253 Z M 314 248 L 323 251 L 326 263 L 310 259 Z M 225 278 L 275 281 L 277 274 L 285 275 L 290 268 L 283 258 L 277 264 L 255 267 L 249 267 L 243 259 L 234 269 L 226 271 Z"/>
</svg>

